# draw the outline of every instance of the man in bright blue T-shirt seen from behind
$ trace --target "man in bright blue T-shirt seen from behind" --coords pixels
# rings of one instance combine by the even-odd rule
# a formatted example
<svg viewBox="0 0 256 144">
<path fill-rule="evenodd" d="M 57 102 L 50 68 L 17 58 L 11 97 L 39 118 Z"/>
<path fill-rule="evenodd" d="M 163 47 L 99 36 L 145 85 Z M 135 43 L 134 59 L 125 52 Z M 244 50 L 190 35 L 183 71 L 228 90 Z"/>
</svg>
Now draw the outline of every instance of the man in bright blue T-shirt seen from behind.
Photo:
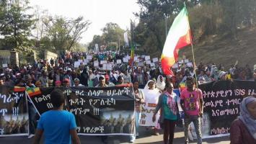
<svg viewBox="0 0 256 144">
<path fill-rule="evenodd" d="M 51 92 L 53 109 L 44 112 L 37 124 L 34 144 L 40 143 L 44 135 L 44 143 L 73 143 L 79 144 L 80 140 L 76 133 L 76 120 L 74 114 L 63 110 L 65 98 L 62 91 Z"/>
</svg>

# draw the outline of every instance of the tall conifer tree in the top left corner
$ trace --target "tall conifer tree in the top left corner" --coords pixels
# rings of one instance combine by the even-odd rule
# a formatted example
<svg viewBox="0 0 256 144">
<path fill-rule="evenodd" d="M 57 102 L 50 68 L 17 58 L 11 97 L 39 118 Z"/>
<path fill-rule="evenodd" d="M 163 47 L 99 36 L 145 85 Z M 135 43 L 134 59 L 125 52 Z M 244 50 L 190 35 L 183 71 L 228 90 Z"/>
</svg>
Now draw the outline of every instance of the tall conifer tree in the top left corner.
<svg viewBox="0 0 256 144">
<path fill-rule="evenodd" d="M 0 35 L 4 36 L 4 49 L 28 50 L 32 46 L 32 41 L 28 37 L 31 35 L 33 24 L 32 14 L 27 14 L 31 9 L 27 0 L 1 1 Z"/>
</svg>

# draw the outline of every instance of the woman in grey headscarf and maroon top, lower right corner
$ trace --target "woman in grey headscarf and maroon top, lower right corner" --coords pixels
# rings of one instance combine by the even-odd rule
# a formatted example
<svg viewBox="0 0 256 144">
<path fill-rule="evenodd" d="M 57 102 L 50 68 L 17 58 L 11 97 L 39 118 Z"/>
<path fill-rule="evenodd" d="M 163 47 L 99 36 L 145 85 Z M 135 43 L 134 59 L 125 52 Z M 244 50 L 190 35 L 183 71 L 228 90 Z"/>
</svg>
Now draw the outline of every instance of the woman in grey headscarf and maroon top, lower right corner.
<svg viewBox="0 0 256 144">
<path fill-rule="evenodd" d="M 240 104 L 240 114 L 230 127 L 231 144 L 256 143 L 256 98 L 248 96 Z"/>
</svg>

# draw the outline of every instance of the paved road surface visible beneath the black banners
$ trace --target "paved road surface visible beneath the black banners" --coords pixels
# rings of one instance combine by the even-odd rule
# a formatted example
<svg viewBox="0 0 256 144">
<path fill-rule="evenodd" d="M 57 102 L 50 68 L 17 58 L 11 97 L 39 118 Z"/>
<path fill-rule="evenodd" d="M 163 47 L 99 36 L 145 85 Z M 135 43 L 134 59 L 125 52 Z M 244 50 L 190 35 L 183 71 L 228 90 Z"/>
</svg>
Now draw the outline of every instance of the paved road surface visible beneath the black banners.
<svg viewBox="0 0 256 144">
<path fill-rule="evenodd" d="M 160 135 L 151 135 L 151 130 L 146 130 L 144 127 L 140 127 L 139 137 L 136 139 L 134 143 L 140 144 L 162 144 L 163 143 L 163 135 L 160 132 Z M 81 143 L 88 144 L 102 144 L 100 137 L 97 136 L 79 136 Z M 107 139 L 108 144 L 118 144 L 118 143 L 128 143 L 128 136 L 112 136 Z M 18 137 L 5 137 L 0 138 L 0 144 L 27 144 L 32 143 L 32 139 L 27 139 L 25 136 Z M 184 143 L 184 132 L 181 128 L 177 127 L 175 130 L 175 140 L 174 144 L 182 144 Z M 196 144 L 196 141 L 191 142 Z M 208 138 L 203 140 L 203 144 L 206 143 L 219 143 L 219 144 L 229 144 L 229 137 L 221 137 L 221 138 Z"/>
</svg>

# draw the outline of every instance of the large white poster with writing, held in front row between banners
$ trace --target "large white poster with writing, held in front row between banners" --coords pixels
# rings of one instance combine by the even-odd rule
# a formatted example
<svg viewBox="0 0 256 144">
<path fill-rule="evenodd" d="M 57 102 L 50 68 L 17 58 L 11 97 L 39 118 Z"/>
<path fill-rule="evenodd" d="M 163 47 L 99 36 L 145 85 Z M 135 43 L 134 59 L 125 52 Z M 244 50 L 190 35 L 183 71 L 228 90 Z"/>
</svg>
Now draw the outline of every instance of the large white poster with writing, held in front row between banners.
<svg viewBox="0 0 256 144">
<path fill-rule="evenodd" d="M 156 121 L 152 122 L 153 112 L 156 109 L 156 105 L 158 103 L 158 97 L 160 96 L 160 93 L 158 90 L 145 90 L 144 96 L 145 96 L 145 102 L 146 104 L 143 104 L 142 112 L 141 112 L 141 120 L 139 122 L 139 125 L 141 126 L 154 126 L 157 127 L 158 120 L 159 120 L 159 112 L 156 114 Z"/>
</svg>

